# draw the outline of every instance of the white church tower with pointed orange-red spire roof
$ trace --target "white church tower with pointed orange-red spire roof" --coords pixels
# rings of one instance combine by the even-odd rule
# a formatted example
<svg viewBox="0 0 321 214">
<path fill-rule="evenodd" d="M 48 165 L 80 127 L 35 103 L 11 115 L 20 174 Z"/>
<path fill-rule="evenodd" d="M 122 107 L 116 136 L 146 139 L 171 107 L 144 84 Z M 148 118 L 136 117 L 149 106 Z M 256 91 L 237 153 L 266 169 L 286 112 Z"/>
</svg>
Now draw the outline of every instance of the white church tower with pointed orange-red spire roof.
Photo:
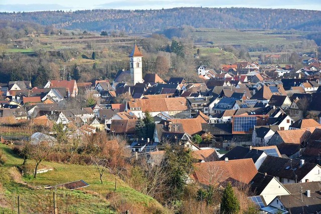
<svg viewBox="0 0 321 214">
<path fill-rule="evenodd" d="M 129 60 L 129 67 L 130 67 L 130 77 L 131 82 L 135 85 L 136 83 L 143 83 L 142 79 L 142 54 L 140 53 L 136 44 L 134 45 L 134 49 L 128 56 Z"/>
</svg>

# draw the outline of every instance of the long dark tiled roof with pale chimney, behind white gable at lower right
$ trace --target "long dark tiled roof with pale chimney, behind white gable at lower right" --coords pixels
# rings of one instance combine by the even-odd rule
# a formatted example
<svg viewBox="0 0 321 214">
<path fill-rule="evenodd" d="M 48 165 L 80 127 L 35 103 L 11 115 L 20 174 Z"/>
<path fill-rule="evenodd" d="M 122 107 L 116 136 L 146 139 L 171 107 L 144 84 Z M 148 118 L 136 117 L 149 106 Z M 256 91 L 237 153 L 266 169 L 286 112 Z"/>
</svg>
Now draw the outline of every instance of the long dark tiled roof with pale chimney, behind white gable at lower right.
<svg viewBox="0 0 321 214">
<path fill-rule="evenodd" d="M 259 168 L 259 172 L 268 175 L 297 180 L 299 182 L 317 164 L 305 162 L 300 166 L 300 161 L 288 158 L 267 156 Z M 295 170 L 294 170 L 295 169 Z"/>
</svg>

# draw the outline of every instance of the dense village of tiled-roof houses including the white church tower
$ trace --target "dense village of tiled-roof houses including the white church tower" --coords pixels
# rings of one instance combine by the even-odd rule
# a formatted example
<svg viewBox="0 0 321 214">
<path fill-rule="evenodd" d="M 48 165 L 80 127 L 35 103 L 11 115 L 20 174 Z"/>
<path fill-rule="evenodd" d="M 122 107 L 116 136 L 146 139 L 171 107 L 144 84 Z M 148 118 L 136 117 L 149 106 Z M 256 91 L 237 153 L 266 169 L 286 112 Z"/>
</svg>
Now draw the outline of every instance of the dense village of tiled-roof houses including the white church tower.
<svg viewBox="0 0 321 214">
<path fill-rule="evenodd" d="M 248 196 L 266 213 L 321 211 L 321 63 L 316 58 L 299 70 L 255 62 L 220 70 L 201 65 L 195 71 L 201 81 L 190 83 L 143 76 L 142 57 L 135 45 L 130 70 L 120 70 L 112 82 L 69 77 L 48 80 L 43 88 L 30 81 L 0 83 L 0 124 L 10 129 L 24 121 L 43 127 L 61 123 L 78 136 L 125 135 L 133 154 L 148 154 L 153 164 L 164 155 L 162 143 L 179 143 L 199 160 L 187 182 L 210 185 L 216 171 L 223 171 L 219 183 L 250 184 Z M 81 94 L 94 104 L 68 109 Z M 128 99 L 115 102 L 121 96 Z M 155 122 L 153 136 L 138 138 L 137 121 L 146 112 Z"/>
</svg>

